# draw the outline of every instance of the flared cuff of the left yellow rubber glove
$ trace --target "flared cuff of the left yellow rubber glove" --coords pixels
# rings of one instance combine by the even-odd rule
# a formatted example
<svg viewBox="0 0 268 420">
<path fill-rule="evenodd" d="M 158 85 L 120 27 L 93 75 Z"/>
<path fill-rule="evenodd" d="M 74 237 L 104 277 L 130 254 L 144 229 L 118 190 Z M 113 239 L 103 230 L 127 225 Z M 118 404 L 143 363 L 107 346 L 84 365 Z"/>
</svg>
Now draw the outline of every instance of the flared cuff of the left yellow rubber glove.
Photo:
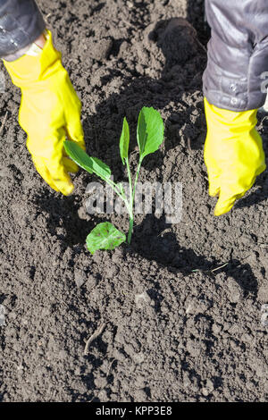
<svg viewBox="0 0 268 420">
<path fill-rule="evenodd" d="M 13 62 L 4 62 L 13 84 L 18 88 L 30 88 L 32 84 L 45 80 L 62 67 L 62 55 L 54 48 L 50 30 L 46 31 L 46 44 L 38 55 L 22 55 Z"/>
</svg>

